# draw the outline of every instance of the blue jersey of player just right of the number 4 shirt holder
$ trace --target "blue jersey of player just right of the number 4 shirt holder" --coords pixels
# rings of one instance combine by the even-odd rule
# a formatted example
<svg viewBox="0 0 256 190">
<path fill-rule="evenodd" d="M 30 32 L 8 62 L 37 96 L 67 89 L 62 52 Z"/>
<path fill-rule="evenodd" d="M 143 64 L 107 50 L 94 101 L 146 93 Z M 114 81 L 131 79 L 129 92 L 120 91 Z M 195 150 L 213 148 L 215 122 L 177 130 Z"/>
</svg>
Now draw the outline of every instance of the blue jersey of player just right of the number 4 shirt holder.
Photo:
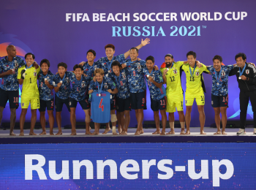
<svg viewBox="0 0 256 190">
<path fill-rule="evenodd" d="M 118 93 L 116 94 L 116 96 L 118 98 L 126 99 L 130 96 L 126 68 L 121 69 L 119 76 L 116 76 L 114 72 L 108 73 L 106 76 L 110 77 L 114 81 L 114 83 L 116 83 L 116 87 L 118 89 Z"/>
</svg>

